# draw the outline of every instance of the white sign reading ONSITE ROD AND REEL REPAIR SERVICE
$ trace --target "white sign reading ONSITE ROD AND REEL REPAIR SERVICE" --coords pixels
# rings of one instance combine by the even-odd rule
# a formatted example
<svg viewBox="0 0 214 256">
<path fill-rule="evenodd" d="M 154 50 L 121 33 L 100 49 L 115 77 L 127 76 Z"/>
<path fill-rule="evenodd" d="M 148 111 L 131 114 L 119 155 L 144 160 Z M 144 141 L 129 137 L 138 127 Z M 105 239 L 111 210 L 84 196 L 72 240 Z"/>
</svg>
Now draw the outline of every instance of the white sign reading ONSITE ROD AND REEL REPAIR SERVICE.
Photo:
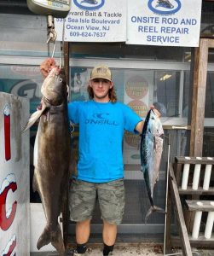
<svg viewBox="0 0 214 256">
<path fill-rule="evenodd" d="M 201 0 L 128 1 L 126 44 L 197 47 Z"/>
</svg>

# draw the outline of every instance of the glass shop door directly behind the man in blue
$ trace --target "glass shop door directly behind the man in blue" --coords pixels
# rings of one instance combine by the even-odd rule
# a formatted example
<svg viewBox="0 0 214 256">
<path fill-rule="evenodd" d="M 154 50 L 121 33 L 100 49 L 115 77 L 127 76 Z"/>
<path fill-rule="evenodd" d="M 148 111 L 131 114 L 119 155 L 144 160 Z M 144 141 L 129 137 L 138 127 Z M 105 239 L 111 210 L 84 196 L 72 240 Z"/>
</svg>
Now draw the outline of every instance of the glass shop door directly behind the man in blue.
<svg viewBox="0 0 214 256">
<path fill-rule="evenodd" d="M 176 155 L 188 154 L 189 150 L 190 63 L 169 63 L 167 61 L 137 61 L 136 63 L 135 60 L 72 58 L 70 60 L 71 81 L 69 84 L 71 101 L 88 99 L 86 88 L 90 79 L 90 71 L 97 64 L 106 64 L 111 68 L 119 102 L 129 105 L 142 117 L 146 116 L 152 104 L 162 114 L 161 121 L 165 129 L 165 143 L 159 170 L 159 182 L 155 185 L 153 197 L 155 204 L 165 208 L 168 135 L 172 135 L 171 159 L 174 159 Z M 75 127 L 73 134 L 77 155 L 78 127 Z M 141 237 L 163 238 L 164 214 L 154 212 L 147 224 L 144 222 L 150 204 L 141 172 L 139 143 L 139 136 L 129 132 L 124 133 L 124 183 L 126 192 L 124 220 L 123 224 L 119 225 L 119 237 L 125 237 L 126 234 L 129 234 L 129 237 L 131 234 L 135 236 L 137 234 Z M 92 236 L 101 233 L 101 224 L 100 211 L 97 206 L 92 219 Z M 69 223 L 68 232 L 71 235 L 74 234 L 74 223 Z"/>
</svg>

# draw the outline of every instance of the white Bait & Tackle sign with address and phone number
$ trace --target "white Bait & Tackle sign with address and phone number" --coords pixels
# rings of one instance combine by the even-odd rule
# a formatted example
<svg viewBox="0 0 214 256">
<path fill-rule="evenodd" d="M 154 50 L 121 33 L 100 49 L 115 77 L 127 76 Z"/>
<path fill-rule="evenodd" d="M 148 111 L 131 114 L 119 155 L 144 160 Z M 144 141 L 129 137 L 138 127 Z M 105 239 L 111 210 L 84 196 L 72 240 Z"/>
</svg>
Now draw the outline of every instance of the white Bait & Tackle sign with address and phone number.
<svg viewBox="0 0 214 256">
<path fill-rule="evenodd" d="M 125 42 L 126 0 L 72 0 L 63 23 L 55 19 L 56 40 L 64 35 L 68 42 Z"/>
</svg>

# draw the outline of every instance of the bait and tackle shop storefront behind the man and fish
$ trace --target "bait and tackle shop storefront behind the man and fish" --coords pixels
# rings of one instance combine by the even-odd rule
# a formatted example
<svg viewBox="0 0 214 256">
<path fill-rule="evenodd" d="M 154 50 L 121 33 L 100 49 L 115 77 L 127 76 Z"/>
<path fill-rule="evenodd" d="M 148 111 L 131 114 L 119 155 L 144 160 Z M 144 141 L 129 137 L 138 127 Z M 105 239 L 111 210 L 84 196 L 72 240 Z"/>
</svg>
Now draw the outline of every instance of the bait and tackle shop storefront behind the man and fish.
<svg viewBox="0 0 214 256">
<path fill-rule="evenodd" d="M 165 131 L 159 181 L 153 190 L 153 200 L 159 207 L 165 208 L 169 162 L 173 163 L 176 156 L 214 156 L 214 2 L 92 2 L 72 0 L 67 18 L 55 18 L 54 43 L 47 38 L 46 15 L 32 13 L 25 0 L 0 3 L 0 131 L 4 138 L 0 148 L 3 166 L 0 252 L 3 255 L 12 251 L 17 255 L 37 252 L 36 244 L 45 224 L 39 195 L 32 189 L 38 124 L 26 134 L 18 134 L 41 101 L 43 77 L 39 66 L 51 55 L 66 68 L 70 101 L 89 99 L 90 72 L 103 64 L 112 70 L 119 102 L 130 106 L 142 118 L 151 105 L 159 109 Z M 78 126 L 72 130 L 75 167 Z M 139 136 L 124 133 L 125 209 L 118 242 L 163 243 L 165 214 L 153 212 L 147 224 L 144 222 L 150 202 L 141 172 L 139 142 Z M 212 173 L 210 186 L 213 184 Z M 100 215 L 96 206 L 92 243 L 101 242 Z M 67 202 L 62 219 L 69 245 L 75 242 L 75 225 L 68 219 Z M 171 222 L 171 232 L 178 234 L 176 218 Z M 25 236 L 26 231 L 17 231 L 23 225 L 28 230 Z M 52 249 L 50 245 L 41 248 Z"/>
</svg>

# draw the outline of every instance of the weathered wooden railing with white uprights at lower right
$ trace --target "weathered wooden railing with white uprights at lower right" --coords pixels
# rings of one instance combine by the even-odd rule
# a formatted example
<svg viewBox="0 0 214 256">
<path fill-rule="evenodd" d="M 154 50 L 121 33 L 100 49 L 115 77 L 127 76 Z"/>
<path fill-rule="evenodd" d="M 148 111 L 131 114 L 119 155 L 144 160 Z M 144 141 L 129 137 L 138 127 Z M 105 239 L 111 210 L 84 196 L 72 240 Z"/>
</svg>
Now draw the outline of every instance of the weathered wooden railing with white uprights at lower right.
<svg viewBox="0 0 214 256">
<path fill-rule="evenodd" d="M 213 165 L 212 157 L 176 157 L 175 164 L 170 165 L 167 253 L 171 252 L 171 247 L 182 247 L 183 255 L 193 255 L 191 246 L 214 247 Z M 172 202 L 175 204 L 179 236 L 171 236 Z"/>
</svg>

